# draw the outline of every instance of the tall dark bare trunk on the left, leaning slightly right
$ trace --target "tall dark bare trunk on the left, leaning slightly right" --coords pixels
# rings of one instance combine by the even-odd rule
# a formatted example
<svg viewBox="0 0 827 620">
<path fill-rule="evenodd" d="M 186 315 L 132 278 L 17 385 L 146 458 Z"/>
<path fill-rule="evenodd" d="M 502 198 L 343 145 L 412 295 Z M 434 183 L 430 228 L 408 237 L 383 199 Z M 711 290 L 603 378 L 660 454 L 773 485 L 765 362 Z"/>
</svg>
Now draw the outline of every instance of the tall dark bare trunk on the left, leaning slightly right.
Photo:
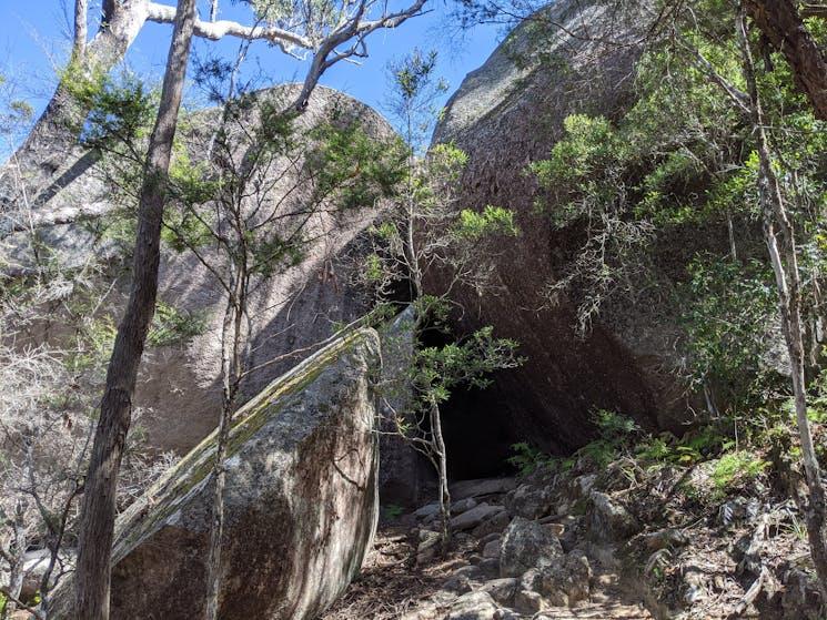
<svg viewBox="0 0 827 620">
<path fill-rule="evenodd" d="M 107 372 L 100 420 L 83 492 L 75 576 L 75 613 L 82 620 L 109 618 L 118 471 L 131 421 L 138 367 L 155 308 L 167 174 L 183 94 L 194 19 L 195 0 L 181 0 L 167 61 L 161 103 L 147 155 L 138 210 L 132 289 L 125 314 L 118 328 Z"/>
</svg>

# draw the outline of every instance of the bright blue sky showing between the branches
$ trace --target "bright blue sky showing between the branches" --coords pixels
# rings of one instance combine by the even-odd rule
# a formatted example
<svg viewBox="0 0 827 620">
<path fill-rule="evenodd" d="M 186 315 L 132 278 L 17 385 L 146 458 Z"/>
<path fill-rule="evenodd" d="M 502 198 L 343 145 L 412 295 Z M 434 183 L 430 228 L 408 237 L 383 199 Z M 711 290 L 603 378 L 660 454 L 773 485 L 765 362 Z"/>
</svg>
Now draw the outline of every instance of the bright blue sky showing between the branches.
<svg viewBox="0 0 827 620">
<path fill-rule="evenodd" d="M 158 0 L 172 4 L 174 0 Z M 206 18 L 209 2 L 200 1 Z M 98 14 L 100 2 L 90 2 L 90 21 Z M 56 83 L 56 68 L 64 62 L 69 49 L 69 19 L 73 0 L 0 0 L 0 71 L 19 85 L 19 94 L 28 99 L 39 113 Z M 229 0 L 222 2 L 225 19 L 250 21 L 248 8 Z M 382 108 L 386 85 L 385 67 L 414 47 L 440 51 L 440 73 L 450 83 L 448 94 L 465 74 L 480 67 L 494 50 L 500 32 L 494 27 L 477 27 L 458 37 L 448 23 L 448 7 L 444 0 L 432 0 L 432 12 L 405 22 L 393 31 L 377 31 L 369 39 L 370 58 L 356 67 L 339 63 L 325 74 L 322 83 L 336 88 L 377 108 Z M 90 33 L 94 26 L 90 23 Z M 167 60 L 171 26 L 148 23 L 127 57 L 130 68 L 149 79 L 159 79 Z M 196 53 L 213 52 L 234 58 L 238 39 L 220 42 L 198 41 Z M 303 78 L 302 63 L 284 57 L 266 43 L 251 48 L 246 63 L 249 74 L 263 71 L 263 85 Z M 194 96 L 196 93 L 190 91 Z M 446 95 L 447 96 L 447 95 Z"/>
</svg>

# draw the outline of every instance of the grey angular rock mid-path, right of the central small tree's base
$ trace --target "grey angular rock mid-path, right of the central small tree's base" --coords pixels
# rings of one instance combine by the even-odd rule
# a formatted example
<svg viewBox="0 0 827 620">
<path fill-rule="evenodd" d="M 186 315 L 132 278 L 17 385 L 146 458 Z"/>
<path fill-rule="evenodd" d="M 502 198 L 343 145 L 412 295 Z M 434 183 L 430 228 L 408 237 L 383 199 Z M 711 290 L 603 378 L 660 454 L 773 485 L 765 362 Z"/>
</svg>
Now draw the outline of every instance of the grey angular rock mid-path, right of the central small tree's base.
<svg viewBox="0 0 827 620">
<path fill-rule="evenodd" d="M 522 517 L 505 529 L 500 552 L 500 575 L 520 577 L 532 568 L 551 566 L 563 557 L 557 538 L 543 526 Z"/>
</svg>

